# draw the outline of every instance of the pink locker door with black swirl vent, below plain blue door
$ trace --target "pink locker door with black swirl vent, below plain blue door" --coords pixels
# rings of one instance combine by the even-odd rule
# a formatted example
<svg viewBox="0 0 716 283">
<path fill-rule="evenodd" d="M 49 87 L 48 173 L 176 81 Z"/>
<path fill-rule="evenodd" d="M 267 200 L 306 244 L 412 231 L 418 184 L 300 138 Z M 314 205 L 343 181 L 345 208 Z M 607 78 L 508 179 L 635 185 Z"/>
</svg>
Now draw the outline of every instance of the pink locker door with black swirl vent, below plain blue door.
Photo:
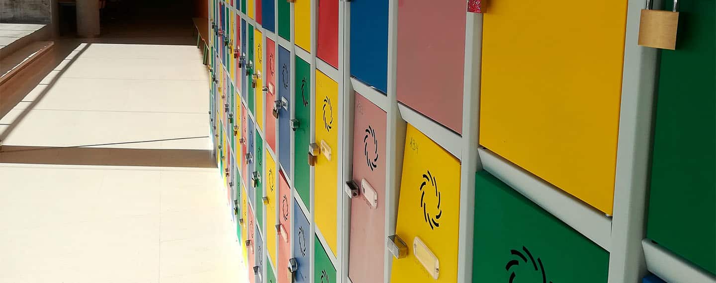
<svg viewBox="0 0 716 283">
<path fill-rule="evenodd" d="M 353 283 L 383 281 L 386 114 L 356 92 L 348 276 Z M 370 272 L 367 272 L 370 271 Z"/>
</svg>

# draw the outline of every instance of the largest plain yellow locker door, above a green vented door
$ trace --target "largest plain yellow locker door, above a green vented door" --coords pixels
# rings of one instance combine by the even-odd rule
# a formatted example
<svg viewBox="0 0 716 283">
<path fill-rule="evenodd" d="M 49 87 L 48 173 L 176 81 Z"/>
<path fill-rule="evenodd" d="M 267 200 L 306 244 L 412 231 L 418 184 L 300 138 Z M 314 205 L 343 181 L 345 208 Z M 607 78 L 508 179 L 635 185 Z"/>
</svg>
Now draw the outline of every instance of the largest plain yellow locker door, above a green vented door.
<svg viewBox="0 0 716 283">
<path fill-rule="evenodd" d="M 627 1 L 490 2 L 480 144 L 612 214 Z"/>
</svg>

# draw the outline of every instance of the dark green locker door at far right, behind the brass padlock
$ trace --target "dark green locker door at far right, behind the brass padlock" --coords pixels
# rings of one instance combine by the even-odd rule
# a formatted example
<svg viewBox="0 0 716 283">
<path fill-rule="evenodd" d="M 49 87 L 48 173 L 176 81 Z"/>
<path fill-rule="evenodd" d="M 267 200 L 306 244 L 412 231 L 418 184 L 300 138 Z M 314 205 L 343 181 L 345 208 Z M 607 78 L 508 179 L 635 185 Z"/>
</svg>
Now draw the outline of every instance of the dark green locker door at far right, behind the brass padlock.
<svg viewBox="0 0 716 283">
<path fill-rule="evenodd" d="M 647 237 L 716 274 L 716 5 L 679 1 L 661 51 Z M 671 7 L 672 1 L 664 6 Z"/>
</svg>

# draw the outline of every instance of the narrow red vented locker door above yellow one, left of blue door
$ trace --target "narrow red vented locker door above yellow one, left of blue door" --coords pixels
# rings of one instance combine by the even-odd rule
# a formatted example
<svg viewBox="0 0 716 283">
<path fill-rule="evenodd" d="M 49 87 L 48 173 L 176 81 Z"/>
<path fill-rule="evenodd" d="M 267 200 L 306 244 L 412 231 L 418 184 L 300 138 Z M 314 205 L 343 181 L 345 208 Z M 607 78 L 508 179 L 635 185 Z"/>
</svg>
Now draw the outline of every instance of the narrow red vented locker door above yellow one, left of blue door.
<svg viewBox="0 0 716 283">
<path fill-rule="evenodd" d="M 281 105 L 276 101 L 276 43 L 266 37 L 266 103 L 264 109 L 271 111 L 266 114 L 266 143 L 269 144 L 271 150 L 276 152 L 276 119 L 279 116 Z"/>
</svg>

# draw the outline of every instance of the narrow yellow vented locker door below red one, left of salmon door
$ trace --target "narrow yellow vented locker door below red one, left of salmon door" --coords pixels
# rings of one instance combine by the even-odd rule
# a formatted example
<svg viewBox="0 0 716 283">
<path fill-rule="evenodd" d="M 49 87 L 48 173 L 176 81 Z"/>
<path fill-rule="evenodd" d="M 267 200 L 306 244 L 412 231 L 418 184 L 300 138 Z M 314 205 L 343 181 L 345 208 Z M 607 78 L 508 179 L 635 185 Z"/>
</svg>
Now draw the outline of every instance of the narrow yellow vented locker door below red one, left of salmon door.
<svg viewBox="0 0 716 283">
<path fill-rule="evenodd" d="M 264 150 L 266 153 L 266 252 L 271 262 L 276 263 L 276 161 L 269 153 L 269 147 Z"/>
</svg>

